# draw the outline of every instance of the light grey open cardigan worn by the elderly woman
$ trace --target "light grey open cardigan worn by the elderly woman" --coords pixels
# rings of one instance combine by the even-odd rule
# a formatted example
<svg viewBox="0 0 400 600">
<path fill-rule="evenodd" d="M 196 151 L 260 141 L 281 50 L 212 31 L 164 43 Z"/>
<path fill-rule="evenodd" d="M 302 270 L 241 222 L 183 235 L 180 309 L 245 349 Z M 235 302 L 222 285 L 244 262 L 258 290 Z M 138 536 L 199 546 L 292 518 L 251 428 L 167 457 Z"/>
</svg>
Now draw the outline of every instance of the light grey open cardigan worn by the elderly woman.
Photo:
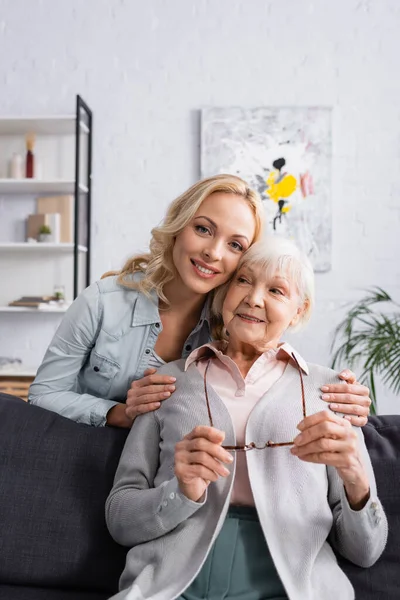
<svg viewBox="0 0 400 600">
<path fill-rule="evenodd" d="M 174 476 L 174 447 L 196 425 L 208 425 L 203 380 L 184 360 L 159 373 L 177 378 L 176 391 L 158 411 L 135 420 L 106 505 L 111 535 L 130 546 L 114 600 L 173 600 L 193 581 L 220 531 L 229 507 L 231 475 L 212 483 L 202 503 L 180 491 Z M 304 375 L 307 414 L 326 409 L 323 384 L 337 382 L 330 369 L 308 365 Z M 229 413 L 209 386 L 214 425 L 235 444 Z M 302 419 L 300 378 L 288 364 L 284 375 L 250 414 L 246 442 L 287 441 Z M 387 521 L 360 429 L 359 444 L 369 473 L 371 497 L 352 511 L 336 470 L 293 456 L 287 447 L 247 454 L 260 523 L 290 600 L 352 600 L 354 591 L 339 568 L 335 548 L 368 567 L 380 556 Z M 328 543 L 328 538 L 329 542 Z"/>
</svg>

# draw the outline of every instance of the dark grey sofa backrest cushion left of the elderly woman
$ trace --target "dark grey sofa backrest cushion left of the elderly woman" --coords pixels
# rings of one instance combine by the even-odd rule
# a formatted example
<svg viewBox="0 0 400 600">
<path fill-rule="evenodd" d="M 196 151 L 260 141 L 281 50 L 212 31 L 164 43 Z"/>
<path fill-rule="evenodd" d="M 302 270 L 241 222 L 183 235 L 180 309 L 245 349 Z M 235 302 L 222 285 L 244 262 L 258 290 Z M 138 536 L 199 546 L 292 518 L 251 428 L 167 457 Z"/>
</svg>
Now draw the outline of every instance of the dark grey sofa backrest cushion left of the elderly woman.
<svg viewBox="0 0 400 600">
<path fill-rule="evenodd" d="M 5 394 L 0 425 L 0 584 L 115 593 L 126 549 L 104 504 L 127 431 Z"/>
</svg>

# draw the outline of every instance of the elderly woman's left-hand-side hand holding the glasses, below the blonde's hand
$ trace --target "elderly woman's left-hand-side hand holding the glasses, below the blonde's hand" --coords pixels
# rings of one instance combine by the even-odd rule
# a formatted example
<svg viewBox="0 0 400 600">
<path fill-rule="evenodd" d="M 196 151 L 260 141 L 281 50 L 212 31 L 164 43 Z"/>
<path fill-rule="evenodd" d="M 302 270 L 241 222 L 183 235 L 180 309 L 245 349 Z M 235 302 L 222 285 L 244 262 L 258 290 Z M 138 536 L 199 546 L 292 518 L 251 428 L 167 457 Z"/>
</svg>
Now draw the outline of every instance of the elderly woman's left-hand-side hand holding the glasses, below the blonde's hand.
<svg viewBox="0 0 400 600">
<path fill-rule="evenodd" d="M 211 481 L 227 477 L 222 463 L 232 463 L 232 455 L 221 447 L 225 433 L 214 427 L 195 427 L 175 446 L 175 475 L 180 490 L 198 502 Z"/>
</svg>

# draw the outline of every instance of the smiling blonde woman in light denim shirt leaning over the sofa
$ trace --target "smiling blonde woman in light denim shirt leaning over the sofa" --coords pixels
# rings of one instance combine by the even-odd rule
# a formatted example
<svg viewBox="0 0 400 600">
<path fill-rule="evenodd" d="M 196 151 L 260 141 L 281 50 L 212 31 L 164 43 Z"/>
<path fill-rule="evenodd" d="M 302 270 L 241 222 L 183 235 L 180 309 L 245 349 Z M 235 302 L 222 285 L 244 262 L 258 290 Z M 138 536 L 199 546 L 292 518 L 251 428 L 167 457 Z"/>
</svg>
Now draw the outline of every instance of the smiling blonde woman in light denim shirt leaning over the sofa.
<svg viewBox="0 0 400 600">
<path fill-rule="evenodd" d="M 127 428 L 138 414 L 159 408 L 175 381 L 155 369 L 210 341 L 209 295 L 260 238 L 262 219 L 261 200 L 242 179 L 217 175 L 195 183 L 153 229 L 148 254 L 75 300 L 29 402 L 80 423 Z M 351 372 L 343 379 L 348 383 L 328 386 L 327 401 L 336 399 L 363 425 L 369 391 Z"/>
</svg>

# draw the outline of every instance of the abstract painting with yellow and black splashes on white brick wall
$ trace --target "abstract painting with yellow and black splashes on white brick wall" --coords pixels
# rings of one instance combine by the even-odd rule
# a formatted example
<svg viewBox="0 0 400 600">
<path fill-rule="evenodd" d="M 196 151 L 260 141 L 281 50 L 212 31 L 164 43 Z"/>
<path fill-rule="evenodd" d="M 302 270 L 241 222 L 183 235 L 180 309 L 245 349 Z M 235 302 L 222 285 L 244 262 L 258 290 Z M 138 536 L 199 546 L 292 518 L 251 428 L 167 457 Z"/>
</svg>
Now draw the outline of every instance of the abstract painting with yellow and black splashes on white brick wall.
<svg viewBox="0 0 400 600">
<path fill-rule="evenodd" d="M 316 271 L 331 268 L 331 109 L 202 110 L 201 174 L 245 179 L 268 233 L 293 239 Z"/>
</svg>

